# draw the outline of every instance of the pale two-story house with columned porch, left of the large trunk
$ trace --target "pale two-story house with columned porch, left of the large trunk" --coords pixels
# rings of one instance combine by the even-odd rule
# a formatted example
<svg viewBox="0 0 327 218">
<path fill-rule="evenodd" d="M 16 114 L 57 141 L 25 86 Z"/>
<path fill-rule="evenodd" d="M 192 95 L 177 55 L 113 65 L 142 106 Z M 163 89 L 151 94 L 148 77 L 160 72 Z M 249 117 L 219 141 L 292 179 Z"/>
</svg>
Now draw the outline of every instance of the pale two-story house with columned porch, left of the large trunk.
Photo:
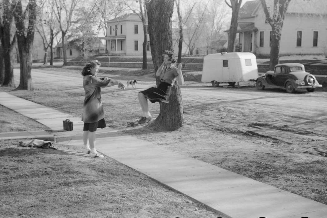
<svg viewBox="0 0 327 218">
<path fill-rule="evenodd" d="M 143 54 L 143 23 L 135 13 L 125 14 L 107 21 L 106 52 L 111 55 L 142 55 Z M 149 37 L 148 37 L 149 38 Z M 150 54 L 148 40 L 146 51 Z"/>
</svg>

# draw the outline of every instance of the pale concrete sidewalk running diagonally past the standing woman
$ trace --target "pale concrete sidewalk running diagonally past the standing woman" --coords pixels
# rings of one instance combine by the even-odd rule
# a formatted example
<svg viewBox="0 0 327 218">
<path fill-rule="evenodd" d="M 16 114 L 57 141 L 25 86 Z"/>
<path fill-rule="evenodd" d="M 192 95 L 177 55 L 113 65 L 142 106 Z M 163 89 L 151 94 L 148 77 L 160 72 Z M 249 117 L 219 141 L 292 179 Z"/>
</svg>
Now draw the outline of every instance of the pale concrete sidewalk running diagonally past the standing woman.
<svg viewBox="0 0 327 218">
<path fill-rule="evenodd" d="M 0 92 L 0 104 L 55 130 L 58 144 L 82 146 L 82 122 L 60 111 Z M 63 132 L 70 119 L 74 131 Z M 327 205 L 249 179 L 136 137 L 105 128 L 97 150 L 181 192 L 228 218 L 322 218 Z"/>
</svg>

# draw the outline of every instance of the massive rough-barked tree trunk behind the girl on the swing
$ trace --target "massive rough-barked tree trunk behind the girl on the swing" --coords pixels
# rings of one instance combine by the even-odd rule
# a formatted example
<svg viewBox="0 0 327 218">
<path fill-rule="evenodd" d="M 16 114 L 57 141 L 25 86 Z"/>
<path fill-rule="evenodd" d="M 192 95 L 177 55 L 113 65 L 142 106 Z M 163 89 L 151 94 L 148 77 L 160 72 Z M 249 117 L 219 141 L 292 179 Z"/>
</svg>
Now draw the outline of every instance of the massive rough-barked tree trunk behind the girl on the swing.
<svg viewBox="0 0 327 218">
<path fill-rule="evenodd" d="M 173 51 L 171 17 L 174 0 L 152 0 L 146 4 L 149 24 L 150 46 L 155 71 L 163 63 L 163 51 Z M 156 78 L 159 83 L 158 77 Z M 176 130 L 185 125 L 181 89 L 178 82 L 171 89 L 169 104 L 160 103 L 160 113 L 149 127 Z"/>
</svg>

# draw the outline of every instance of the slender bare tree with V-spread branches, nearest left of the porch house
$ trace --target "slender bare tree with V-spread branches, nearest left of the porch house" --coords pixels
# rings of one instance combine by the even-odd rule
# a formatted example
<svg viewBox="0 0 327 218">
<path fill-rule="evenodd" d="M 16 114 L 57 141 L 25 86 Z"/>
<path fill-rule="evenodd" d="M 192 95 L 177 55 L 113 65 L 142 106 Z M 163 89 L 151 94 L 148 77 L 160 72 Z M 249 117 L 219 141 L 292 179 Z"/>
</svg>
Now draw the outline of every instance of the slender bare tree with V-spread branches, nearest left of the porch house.
<svg viewBox="0 0 327 218">
<path fill-rule="evenodd" d="M 67 65 L 66 34 L 72 25 L 73 12 L 77 6 L 78 0 L 53 0 L 53 3 L 54 5 L 52 5 L 52 8 L 55 11 L 55 16 L 61 31 L 63 65 Z"/>
</svg>

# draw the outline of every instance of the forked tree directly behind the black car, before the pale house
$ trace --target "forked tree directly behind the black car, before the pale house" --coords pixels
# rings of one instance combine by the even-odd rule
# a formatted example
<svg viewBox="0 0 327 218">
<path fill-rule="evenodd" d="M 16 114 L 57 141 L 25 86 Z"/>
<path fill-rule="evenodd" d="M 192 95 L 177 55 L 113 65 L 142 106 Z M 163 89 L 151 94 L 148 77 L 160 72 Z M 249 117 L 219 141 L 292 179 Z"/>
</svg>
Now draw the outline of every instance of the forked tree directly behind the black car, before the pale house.
<svg viewBox="0 0 327 218">
<path fill-rule="evenodd" d="M 266 0 L 260 0 L 262 8 L 266 15 L 266 21 L 272 29 L 271 47 L 270 47 L 270 70 L 273 70 L 275 65 L 279 63 L 279 49 L 282 36 L 282 28 L 289 2 L 291 0 L 274 0 L 272 14 L 270 15 L 267 8 Z"/>
</svg>

